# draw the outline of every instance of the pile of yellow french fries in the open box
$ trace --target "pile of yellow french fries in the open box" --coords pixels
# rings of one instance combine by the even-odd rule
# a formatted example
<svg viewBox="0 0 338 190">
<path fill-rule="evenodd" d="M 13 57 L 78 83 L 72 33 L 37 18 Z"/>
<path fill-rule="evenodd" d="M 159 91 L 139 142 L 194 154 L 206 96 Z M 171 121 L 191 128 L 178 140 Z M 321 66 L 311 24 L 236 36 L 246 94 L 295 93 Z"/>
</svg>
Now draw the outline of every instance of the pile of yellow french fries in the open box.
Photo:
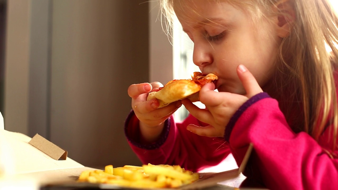
<svg viewBox="0 0 338 190">
<path fill-rule="evenodd" d="M 132 188 L 176 188 L 199 179 L 198 173 L 185 170 L 178 165 L 143 165 L 104 170 L 86 170 L 81 173 L 78 182 L 105 183 Z"/>
</svg>

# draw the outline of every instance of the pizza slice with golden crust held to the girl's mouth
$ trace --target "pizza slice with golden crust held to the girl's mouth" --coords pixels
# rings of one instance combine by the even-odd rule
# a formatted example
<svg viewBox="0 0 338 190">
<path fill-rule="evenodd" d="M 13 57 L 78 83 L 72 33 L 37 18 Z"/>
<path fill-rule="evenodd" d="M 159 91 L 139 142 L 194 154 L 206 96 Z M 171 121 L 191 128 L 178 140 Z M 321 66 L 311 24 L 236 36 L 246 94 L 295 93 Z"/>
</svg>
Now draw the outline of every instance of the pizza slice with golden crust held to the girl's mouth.
<svg viewBox="0 0 338 190">
<path fill-rule="evenodd" d="M 200 72 L 194 72 L 191 79 L 171 80 L 164 87 L 159 88 L 159 91 L 150 92 L 147 100 L 158 99 L 160 102 L 159 108 L 185 98 L 196 102 L 199 101 L 201 88 L 217 79 L 218 77 L 212 73 L 203 76 Z"/>
</svg>

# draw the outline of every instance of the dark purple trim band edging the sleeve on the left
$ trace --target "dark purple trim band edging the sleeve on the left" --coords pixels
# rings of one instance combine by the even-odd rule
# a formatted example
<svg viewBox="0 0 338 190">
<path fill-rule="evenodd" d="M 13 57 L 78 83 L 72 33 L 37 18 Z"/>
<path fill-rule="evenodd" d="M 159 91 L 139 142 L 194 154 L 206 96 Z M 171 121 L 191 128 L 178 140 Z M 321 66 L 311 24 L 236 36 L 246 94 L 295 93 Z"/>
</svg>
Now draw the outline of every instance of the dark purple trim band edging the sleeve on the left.
<svg viewBox="0 0 338 190">
<path fill-rule="evenodd" d="M 160 148 L 160 146 L 162 146 L 163 143 L 167 140 L 167 137 L 168 137 L 168 134 L 169 134 L 169 129 L 170 129 L 171 118 L 169 117 L 167 120 L 165 120 L 162 134 L 156 142 L 144 144 L 144 143 L 140 143 L 140 141 L 138 141 L 137 139 L 132 138 L 128 135 L 128 124 L 129 124 L 132 116 L 134 116 L 134 114 L 135 114 L 134 111 L 131 110 L 131 112 L 129 113 L 129 115 L 128 115 L 125 123 L 124 123 L 124 134 L 125 134 L 127 140 L 132 145 L 134 145 L 138 148 L 146 149 L 146 150 L 153 150 L 153 149 Z M 137 127 L 139 127 L 139 126 L 137 126 Z M 139 130 L 138 130 L 138 132 L 139 132 Z"/>
</svg>

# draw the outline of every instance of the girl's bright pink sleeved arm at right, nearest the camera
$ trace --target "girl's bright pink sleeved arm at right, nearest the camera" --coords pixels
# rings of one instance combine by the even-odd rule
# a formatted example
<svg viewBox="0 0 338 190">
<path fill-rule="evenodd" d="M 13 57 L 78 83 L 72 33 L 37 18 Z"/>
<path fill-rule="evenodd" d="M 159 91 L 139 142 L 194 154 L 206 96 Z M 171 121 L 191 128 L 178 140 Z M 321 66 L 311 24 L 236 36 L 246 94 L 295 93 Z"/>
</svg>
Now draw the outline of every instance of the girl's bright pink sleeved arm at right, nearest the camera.
<svg viewBox="0 0 338 190">
<path fill-rule="evenodd" d="M 261 179 L 270 189 L 338 187 L 338 152 L 328 154 L 329 129 L 319 142 L 305 132 L 295 134 L 278 102 L 266 93 L 250 98 L 239 110 L 226 126 L 225 140 L 238 165 L 253 143 L 247 177 Z"/>
</svg>

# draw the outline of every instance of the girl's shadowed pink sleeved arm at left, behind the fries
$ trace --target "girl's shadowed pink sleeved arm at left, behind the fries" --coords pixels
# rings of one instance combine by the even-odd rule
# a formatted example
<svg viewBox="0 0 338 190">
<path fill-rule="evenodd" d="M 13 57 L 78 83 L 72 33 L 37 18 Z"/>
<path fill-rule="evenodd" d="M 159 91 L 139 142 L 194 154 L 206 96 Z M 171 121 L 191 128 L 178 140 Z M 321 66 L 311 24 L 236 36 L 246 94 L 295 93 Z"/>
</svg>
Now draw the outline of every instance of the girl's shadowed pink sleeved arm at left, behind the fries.
<svg viewBox="0 0 338 190">
<path fill-rule="evenodd" d="M 171 116 L 159 139 L 146 143 L 140 136 L 139 120 L 131 112 L 125 122 L 125 135 L 143 164 L 180 165 L 195 172 L 215 166 L 229 155 L 230 148 L 223 138 L 193 134 L 186 129 L 188 123 L 201 125 L 191 115 L 183 123 L 175 123 Z"/>
</svg>

